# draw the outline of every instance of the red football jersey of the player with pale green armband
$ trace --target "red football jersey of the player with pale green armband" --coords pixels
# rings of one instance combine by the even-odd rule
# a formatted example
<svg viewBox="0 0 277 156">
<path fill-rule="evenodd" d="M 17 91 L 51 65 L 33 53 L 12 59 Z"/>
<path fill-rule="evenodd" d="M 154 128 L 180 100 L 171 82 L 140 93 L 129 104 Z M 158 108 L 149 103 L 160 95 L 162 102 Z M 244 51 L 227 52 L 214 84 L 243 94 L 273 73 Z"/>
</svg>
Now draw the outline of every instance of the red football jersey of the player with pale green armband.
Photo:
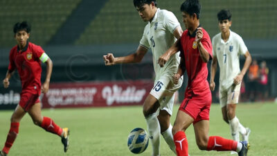
<svg viewBox="0 0 277 156">
<path fill-rule="evenodd" d="M 18 46 L 14 46 L 10 50 L 10 71 L 18 70 L 22 91 L 32 94 L 40 94 L 42 76 L 42 65 L 39 60 L 44 53 L 42 47 L 31 42 L 27 42 L 25 48 L 19 51 Z"/>
</svg>

